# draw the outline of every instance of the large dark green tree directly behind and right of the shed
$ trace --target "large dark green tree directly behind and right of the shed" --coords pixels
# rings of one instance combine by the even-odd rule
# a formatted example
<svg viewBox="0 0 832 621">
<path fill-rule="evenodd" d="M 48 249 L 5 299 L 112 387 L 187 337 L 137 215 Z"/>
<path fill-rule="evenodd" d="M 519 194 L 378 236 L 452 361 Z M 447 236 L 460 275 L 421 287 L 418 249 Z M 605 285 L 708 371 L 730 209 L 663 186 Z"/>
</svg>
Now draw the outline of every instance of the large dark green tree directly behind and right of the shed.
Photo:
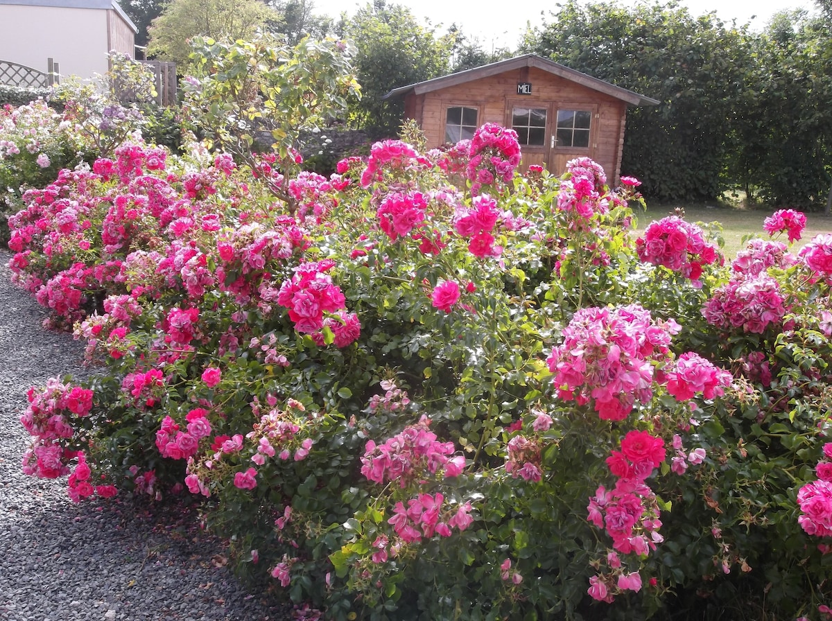
<svg viewBox="0 0 832 621">
<path fill-rule="evenodd" d="M 525 51 L 661 101 L 628 111 L 622 171 L 657 200 L 721 195 L 726 136 L 749 87 L 750 35 L 676 2 L 625 9 L 568 0 Z"/>
</svg>

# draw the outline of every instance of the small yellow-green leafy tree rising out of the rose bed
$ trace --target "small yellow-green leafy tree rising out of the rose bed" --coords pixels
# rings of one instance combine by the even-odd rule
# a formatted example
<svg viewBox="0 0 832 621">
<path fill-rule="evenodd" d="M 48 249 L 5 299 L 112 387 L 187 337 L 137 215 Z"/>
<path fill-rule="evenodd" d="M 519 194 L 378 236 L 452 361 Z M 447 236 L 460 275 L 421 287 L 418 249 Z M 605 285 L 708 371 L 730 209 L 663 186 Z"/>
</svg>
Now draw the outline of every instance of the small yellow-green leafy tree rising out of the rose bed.
<svg viewBox="0 0 832 621">
<path fill-rule="evenodd" d="M 269 135 L 280 179 L 272 190 L 288 201 L 290 175 L 299 169 L 300 136 L 318 132 L 343 111 L 359 86 L 349 65 L 351 48 L 334 39 L 303 39 L 287 46 L 271 35 L 250 42 L 196 37 L 194 76 L 184 81 L 186 116 L 216 149 L 253 165 L 258 134 Z"/>
</svg>

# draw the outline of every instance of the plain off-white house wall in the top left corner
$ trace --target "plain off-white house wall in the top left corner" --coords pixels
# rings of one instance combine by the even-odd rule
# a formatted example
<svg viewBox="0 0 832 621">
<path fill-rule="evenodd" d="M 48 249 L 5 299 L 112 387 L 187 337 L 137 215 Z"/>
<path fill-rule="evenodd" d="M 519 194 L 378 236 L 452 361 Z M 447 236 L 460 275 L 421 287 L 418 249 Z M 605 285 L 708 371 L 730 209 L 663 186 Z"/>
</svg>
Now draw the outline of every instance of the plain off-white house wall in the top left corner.
<svg viewBox="0 0 832 621">
<path fill-rule="evenodd" d="M 47 71 L 47 58 L 52 57 L 62 76 L 103 74 L 108 69 L 108 13 L 0 4 L 0 60 Z M 113 17 L 112 22 L 118 20 Z M 128 53 L 132 57 L 132 50 Z"/>
</svg>

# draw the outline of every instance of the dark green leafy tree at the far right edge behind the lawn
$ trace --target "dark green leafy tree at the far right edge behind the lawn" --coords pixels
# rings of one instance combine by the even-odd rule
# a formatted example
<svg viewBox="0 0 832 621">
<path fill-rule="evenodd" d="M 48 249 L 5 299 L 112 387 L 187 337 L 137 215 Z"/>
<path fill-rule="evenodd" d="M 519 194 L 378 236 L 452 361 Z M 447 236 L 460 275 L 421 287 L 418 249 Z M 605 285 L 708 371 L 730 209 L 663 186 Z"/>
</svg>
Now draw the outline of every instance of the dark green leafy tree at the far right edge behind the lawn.
<svg viewBox="0 0 832 621">
<path fill-rule="evenodd" d="M 832 165 L 832 39 L 820 18 L 783 12 L 756 41 L 728 176 L 750 204 L 825 204 Z"/>
</svg>

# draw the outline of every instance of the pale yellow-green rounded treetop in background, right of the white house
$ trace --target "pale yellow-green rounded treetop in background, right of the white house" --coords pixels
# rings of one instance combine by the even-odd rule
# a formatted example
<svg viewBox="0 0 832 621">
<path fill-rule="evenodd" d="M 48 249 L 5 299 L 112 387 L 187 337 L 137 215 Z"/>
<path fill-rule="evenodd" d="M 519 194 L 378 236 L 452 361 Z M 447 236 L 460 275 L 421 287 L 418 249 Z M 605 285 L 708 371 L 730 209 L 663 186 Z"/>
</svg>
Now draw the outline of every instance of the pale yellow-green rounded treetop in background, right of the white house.
<svg viewBox="0 0 832 621">
<path fill-rule="evenodd" d="M 260 0 L 171 0 L 150 27 L 147 53 L 190 67 L 192 37 L 249 39 L 280 15 Z"/>
</svg>

